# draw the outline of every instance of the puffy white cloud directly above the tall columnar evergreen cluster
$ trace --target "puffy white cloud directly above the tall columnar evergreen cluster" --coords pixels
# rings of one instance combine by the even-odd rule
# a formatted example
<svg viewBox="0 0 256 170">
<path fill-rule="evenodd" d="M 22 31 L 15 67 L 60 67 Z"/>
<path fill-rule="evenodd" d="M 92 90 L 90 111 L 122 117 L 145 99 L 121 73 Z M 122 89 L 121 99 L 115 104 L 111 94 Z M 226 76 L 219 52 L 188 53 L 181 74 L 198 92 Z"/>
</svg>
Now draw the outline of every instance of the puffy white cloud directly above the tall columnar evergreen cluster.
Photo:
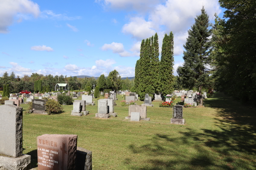
<svg viewBox="0 0 256 170">
<path fill-rule="evenodd" d="M 122 27 L 122 32 L 132 34 L 138 40 L 151 37 L 156 33 L 153 29 L 153 23 L 146 21 L 143 17 L 132 17 L 130 23 Z"/>
</svg>

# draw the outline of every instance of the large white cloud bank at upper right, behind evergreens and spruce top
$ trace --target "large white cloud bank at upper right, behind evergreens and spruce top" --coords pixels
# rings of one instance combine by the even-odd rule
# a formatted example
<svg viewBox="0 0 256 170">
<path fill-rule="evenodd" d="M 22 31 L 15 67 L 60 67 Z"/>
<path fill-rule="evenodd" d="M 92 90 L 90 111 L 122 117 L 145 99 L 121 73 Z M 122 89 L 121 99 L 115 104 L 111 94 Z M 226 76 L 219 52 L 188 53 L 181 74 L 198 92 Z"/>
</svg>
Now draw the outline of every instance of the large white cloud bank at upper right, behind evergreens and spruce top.
<svg viewBox="0 0 256 170">
<path fill-rule="evenodd" d="M 136 2 L 135 2 L 136 1 Z M 195 22 L 194 18 L 201 14 L 204 8 L 209 15 L 209 19 L 214 19 L 214 14 L 221 12 L 218 0 L 165 0 L 155 4 L 150 8 L 148 15 L 141 15 L 143 8 L 138 6 L 145 5 L 149 8 L 150 0 L 102 0 L 105 6 L 111 8 L 126 8 L 129 4 L 138 12 L 137 15 L 130 17 L 130 21 L 122 27 L 122 32 L 131 34 L 133 38 L 140 41 L 151 37 L 157 32 L 159 37 L 159 51 L 161 52 L 164 34 L 174 34 L 174 54 L 180 55 L 183 52 L 183 44 L 186 43 L 187 31 Z M 126 6 L 126 7 L 125 7 Z M 135 7 L 136 6 L 136 7 Z M 145 19 L 148 17 L 148 19 Z M 139 51 L 137 51 L 138 53 Z"/>
</svg>

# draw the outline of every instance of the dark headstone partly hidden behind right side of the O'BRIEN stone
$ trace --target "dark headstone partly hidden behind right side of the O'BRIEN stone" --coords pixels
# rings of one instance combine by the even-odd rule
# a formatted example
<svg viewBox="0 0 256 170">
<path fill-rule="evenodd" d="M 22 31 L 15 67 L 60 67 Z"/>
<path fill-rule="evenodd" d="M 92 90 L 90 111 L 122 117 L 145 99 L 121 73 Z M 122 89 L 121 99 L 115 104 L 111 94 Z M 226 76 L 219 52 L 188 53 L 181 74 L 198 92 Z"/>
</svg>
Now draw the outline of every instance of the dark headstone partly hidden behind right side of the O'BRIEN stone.
<svg viewBox="0 0 256 170">
<path fill-rule="evenodd" d="M 92 170 L 92 151 L 77 147 L 76 170 Z"/>
</svg>

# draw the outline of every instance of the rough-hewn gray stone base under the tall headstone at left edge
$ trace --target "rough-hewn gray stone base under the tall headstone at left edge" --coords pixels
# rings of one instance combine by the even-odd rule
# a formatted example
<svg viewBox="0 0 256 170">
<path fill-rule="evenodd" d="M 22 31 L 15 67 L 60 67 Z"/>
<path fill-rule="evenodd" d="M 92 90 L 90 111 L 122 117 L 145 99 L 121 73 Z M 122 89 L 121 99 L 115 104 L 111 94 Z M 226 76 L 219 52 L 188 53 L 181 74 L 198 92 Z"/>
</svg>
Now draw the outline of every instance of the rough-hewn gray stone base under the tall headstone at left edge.
<svg viewBox="0 0 256 170">
<path fill-rule="evenodd" d="M 22 155 L 17 158 L 0 156 L 0 169 L 3 167 L 7 170 L 29 170 L 30 162 L 30 155 Z"/>
</svg>

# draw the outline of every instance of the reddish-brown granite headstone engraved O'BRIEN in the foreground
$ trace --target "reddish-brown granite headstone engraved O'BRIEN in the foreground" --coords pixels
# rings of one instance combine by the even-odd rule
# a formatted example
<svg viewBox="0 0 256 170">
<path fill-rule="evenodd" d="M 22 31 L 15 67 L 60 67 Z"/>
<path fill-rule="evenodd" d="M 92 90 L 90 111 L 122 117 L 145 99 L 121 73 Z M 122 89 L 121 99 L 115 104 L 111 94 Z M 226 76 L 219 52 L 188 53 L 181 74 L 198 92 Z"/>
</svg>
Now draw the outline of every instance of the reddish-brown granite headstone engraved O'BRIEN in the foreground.
<svg viewBox="0 0 256 170">
<path fill-rule="evenodd" d="M 37 137 L 38 170 L 74 170 L 77 135 Z"/>
</svg>

